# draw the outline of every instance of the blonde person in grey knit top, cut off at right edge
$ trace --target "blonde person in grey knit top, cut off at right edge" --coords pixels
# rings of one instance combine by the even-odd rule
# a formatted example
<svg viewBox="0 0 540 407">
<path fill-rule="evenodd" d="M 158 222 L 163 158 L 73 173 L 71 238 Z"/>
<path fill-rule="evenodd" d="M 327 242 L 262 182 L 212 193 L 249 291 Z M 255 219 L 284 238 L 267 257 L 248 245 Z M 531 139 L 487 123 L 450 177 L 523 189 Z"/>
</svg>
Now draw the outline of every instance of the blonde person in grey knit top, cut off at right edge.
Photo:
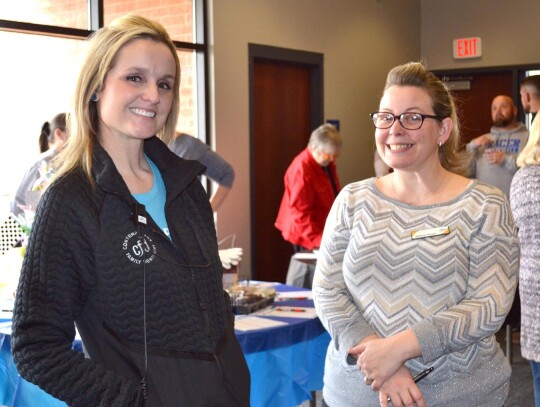
<svg viewBox="0 0 540 407">
<path fill-rule="evenodd" d="M 517 158 L 510 204 L 519 229 L 521 259 L 521 354 L 530 360 L 534 399 L 540 407 L 540 121 L 534 120 L 527 145 Z"/>
</svg>

